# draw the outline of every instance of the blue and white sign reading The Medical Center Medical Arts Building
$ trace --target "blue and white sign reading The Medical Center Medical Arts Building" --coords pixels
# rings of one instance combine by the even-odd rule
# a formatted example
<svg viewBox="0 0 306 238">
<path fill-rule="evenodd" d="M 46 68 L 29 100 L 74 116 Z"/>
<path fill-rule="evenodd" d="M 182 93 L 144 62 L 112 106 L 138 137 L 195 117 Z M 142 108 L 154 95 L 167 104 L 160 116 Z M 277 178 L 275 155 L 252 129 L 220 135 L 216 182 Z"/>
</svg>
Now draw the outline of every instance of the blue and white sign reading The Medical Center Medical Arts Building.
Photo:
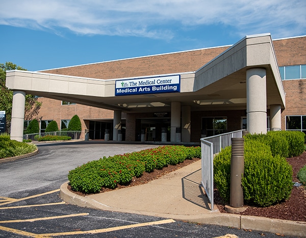
<svg viewBox="0 0 306 238">
<path fill-rule="evenodd" d="M 117 80 L 115 95 L 180 92 L 180 75 Z"/>
</svg>

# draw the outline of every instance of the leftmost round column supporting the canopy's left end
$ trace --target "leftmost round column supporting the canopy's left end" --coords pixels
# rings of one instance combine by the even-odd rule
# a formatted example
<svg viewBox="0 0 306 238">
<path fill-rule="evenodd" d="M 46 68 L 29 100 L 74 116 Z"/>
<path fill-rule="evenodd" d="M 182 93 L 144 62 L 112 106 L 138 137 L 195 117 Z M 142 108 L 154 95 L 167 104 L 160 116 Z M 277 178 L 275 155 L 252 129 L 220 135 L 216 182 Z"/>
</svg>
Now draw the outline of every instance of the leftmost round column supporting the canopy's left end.
<svg viewBox="0 0 306 238">
<path fill-rule="evenodd" d="M 11 140 L 23 140 L 25 92 L 13 92 Z"/>
</svg>

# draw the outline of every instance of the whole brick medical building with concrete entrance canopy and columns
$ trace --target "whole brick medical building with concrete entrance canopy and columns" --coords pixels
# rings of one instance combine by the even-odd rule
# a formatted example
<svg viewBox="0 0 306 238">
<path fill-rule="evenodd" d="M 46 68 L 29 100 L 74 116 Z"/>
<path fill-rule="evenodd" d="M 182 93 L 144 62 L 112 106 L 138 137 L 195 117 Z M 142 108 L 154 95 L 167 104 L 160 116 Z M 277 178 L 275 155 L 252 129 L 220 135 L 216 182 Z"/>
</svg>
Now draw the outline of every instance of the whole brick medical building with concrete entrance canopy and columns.
<svg viewBox="0 0 306 238">
<path fill-rule="evenodd" d="M 246 36 L 234 45 L 77 65 L 8 71 L 14 91 L 11 138 L 25 121 L 41 131 L 77 114 L 92 140 L 199 142 L 246 128 L 306 133 L 306 36 Z M 24 117 L 25 94 L 40 96 Z M 83 135 L 84 138 L 84 135 Z"/>
</svg>

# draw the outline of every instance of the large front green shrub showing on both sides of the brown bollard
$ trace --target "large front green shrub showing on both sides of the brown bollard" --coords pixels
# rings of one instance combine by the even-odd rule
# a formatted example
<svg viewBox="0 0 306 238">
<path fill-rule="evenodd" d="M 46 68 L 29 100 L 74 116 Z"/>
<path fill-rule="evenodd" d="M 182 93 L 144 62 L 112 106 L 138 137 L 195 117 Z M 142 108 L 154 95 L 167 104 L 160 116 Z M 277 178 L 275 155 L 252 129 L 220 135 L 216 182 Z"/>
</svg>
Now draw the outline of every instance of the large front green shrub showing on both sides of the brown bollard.
<svg viewBox="0 0 306 238">
<path fill-rule="evenodd" d="M 270 139 L 269 139 L 270 140 Z M 243 197 L 258 206 L 288 199 L 292 190 L 292 168 L 284 157 L 272 155 L 267 138 L 261 135 L 245 137 Z M 214 158 L 214 182 L 221 198 L 230 201 L 231 146 Z"/>
</svg>

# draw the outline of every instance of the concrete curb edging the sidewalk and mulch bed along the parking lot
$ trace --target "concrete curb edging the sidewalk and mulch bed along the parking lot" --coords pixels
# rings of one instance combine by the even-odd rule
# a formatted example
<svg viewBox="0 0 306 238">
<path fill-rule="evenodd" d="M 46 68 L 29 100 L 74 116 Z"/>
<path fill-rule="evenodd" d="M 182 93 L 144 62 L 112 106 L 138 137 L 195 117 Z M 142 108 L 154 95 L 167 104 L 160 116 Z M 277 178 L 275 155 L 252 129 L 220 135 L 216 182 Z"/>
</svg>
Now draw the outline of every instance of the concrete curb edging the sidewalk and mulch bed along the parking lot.
<svg viewBox="0 0 306 238">
<path fill-rule="evenodd" d="M 146 216 L 163 217 L 187 222 L 197 222 L 202 224 L 230 226 L 239 229 L 259 230 L 284 235 L 306 237 L 306 223 L 279 219 L 270 219 L 254 216 L 242 216 L 237 214 L 212 213 L 203 215 L 173 215 L 154 213 L 151 211 L 130 210 L 124 208 L 110 207 L 99 203 L 89 197 L 83 197 L 70 192 L 67 188 L 68 182 L 62 184 L 60 197 L 66 203 L 81 207 L 89 207 L 99 210 L 117 211 L 120 213 L 132 213 Z"/>
</svg>

